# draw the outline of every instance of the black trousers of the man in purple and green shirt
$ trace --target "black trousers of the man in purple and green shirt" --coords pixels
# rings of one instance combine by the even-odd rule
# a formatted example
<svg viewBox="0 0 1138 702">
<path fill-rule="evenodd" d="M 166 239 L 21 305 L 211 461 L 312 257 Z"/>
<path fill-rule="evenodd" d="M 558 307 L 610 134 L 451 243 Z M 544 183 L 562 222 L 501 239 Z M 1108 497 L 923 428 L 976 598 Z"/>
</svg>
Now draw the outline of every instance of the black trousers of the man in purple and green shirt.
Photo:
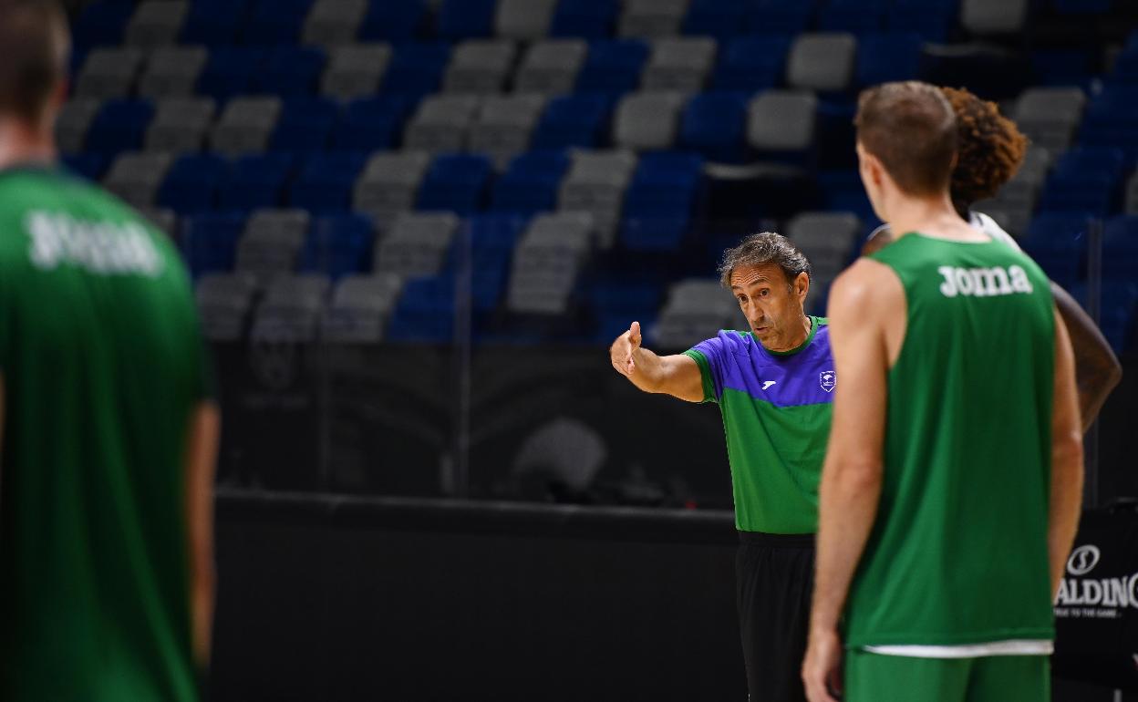
<svg viewBox="0 0 1138 702">
<path fill-rule="evenodd" d="M 814 535 L 740 531 L 735 593 L 752 702 L 801 702 Z"/>
</svg>

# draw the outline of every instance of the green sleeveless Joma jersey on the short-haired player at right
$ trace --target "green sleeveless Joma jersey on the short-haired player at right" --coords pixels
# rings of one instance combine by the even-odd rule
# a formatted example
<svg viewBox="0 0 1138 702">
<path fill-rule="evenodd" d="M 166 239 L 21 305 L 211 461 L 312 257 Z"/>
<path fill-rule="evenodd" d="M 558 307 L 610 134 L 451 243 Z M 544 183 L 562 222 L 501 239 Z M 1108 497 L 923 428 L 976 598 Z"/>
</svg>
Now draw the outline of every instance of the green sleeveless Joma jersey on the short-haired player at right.
<svg viewBox="0 0 1138 702">
<path fill-rule="evenodd" d="M 997 242 L 910 233 L 873 258 L 900 279 L 908 312 L 846 643 L 1053 638 L 1048 280 Z"/>
</svg>

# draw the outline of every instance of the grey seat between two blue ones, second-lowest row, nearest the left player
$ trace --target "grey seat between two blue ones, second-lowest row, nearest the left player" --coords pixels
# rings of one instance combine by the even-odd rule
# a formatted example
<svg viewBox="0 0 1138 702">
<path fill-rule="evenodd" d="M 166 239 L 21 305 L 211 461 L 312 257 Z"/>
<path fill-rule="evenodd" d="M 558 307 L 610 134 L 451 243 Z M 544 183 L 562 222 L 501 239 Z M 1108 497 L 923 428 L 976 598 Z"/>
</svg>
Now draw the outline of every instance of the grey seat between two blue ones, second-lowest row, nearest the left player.
<svg viewBox="0 0 1138 702">
<path fill-rule="evenodd" d="M 296 266 L 297 254 L 308 233 L 304 209 L 258 209 L 237 242 L 237 270 L 251 273 L 264 284 Z"/>
</svg>

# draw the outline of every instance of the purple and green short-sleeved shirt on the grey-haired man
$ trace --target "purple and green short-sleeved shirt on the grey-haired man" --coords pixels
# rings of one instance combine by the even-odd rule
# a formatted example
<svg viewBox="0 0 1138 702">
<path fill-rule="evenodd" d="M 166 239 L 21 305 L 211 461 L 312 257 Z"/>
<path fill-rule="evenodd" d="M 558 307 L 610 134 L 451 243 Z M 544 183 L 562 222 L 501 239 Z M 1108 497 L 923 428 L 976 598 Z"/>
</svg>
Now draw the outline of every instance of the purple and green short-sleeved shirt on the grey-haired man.
<svg viewBox="0 0 1138 702">
<path fill-rule="evenodd" d="M 719 404 L 740 531 L 814 534 L 818 481 L 838 375 L 824 317 L 798 348 L 768 350 L 754 335 L 720 331 L 684 352 Z"/>
</svg>

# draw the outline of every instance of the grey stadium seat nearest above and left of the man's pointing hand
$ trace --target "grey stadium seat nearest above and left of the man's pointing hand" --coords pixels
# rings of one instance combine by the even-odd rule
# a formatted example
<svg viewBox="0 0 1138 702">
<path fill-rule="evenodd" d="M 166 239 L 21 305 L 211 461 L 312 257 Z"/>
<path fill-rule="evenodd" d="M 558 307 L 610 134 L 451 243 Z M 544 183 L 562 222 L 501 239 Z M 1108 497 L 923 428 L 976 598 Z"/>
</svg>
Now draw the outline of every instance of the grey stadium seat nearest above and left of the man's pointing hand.
<svg viewBox="0 0 1138 702">
<path fill-rule="evenodd" d="M 593 234 L 587 213 L 534 217 L 513 255 L 506 307 L 521 314 L 563 314 Z"/>
</svg>

